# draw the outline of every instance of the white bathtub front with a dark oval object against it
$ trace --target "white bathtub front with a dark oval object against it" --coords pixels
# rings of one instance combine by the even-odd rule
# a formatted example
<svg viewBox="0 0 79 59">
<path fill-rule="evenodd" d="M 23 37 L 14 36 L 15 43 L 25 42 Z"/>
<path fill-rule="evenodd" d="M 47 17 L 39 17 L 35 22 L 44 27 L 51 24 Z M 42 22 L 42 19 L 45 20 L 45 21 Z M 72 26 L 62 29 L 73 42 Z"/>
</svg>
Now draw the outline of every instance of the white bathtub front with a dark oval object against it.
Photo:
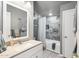
<svg viewBox="0 0 79 59">
<path fill-rule="evenodd" d="M 53 44 L 55 44 L 54 49 L 52 49 Z M 54 51 L 56 53 L 60 53 L 60 41 L 46 39 L 46 49 Z"/>
</svg>

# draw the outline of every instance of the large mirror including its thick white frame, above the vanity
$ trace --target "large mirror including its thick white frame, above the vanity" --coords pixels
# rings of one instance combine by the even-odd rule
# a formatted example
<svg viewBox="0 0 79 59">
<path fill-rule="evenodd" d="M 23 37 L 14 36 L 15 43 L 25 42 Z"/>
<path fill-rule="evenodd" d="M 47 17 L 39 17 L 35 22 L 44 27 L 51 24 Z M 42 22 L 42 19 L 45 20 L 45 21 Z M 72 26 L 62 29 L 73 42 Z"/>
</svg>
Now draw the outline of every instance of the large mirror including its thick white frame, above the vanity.
<svg viewBox="0 0 79 59">
<path fill-rule="evenodd" d="M 18 5 L 3 3 L 3 34 L 5 38 L 28 37 L 28 11 Z"/>
</svg>

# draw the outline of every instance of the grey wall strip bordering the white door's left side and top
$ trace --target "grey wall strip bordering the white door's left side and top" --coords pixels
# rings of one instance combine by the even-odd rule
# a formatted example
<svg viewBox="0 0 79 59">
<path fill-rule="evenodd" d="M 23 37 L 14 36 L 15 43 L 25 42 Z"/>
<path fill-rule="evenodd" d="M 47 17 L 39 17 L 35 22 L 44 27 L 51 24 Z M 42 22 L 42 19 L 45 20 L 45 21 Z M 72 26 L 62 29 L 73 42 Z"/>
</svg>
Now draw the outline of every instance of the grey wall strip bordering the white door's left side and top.
<svg viewBox="0 0 79 59">
<path fill-rule="evenodd" d="M 76 3 L 77 2 L 70 2 L 70 3 L 67 3 L 67 4 L 64 4 L 64 5 L 62 5 L 61 7 L 60 7 L 60 35 L 61 35 L 61 37 L 60 37 L 60 39 L 61 39 L 61 53 L 62 53 L 62 49 L 63 49 L 63 47 L 62 47 L 62 11 L 64 11 L 64 10 L 68 10 L 68 9 L 73 9 L 73 8 L 75 8 L 75 6 L 76 6 Z"/>
</svg>

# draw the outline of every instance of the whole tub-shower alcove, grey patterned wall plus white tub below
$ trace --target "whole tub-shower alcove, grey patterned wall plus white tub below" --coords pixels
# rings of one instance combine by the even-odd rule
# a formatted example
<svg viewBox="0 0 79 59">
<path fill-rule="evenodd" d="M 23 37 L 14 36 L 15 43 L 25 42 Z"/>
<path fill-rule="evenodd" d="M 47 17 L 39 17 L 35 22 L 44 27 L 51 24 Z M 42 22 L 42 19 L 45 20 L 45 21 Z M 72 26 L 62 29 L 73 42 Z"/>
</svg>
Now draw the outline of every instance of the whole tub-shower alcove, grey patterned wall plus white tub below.
<svg viewBox="0 0 79 59">
<path fill-rule="evenodd" d="M 46 17 L 46 48 L 60 53 L 60 17 Z"/>
</svg>

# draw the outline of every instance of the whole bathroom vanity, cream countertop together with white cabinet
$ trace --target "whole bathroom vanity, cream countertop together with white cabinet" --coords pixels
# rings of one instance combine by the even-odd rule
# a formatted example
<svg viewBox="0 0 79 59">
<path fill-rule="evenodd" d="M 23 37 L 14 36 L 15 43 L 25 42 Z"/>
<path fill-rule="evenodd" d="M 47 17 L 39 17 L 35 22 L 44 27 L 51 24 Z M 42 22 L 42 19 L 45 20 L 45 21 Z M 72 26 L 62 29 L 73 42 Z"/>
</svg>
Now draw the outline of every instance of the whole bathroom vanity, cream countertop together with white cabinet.
<svg viewBox="0 0 79 59">
<path fill-rule="evenodd" d="M 0 54 L 0 58 L 42 58 L 43 44 L 40 41 L 28 40 L 22 44 L 8 46 L 7 50 Z"/>
</svg>

